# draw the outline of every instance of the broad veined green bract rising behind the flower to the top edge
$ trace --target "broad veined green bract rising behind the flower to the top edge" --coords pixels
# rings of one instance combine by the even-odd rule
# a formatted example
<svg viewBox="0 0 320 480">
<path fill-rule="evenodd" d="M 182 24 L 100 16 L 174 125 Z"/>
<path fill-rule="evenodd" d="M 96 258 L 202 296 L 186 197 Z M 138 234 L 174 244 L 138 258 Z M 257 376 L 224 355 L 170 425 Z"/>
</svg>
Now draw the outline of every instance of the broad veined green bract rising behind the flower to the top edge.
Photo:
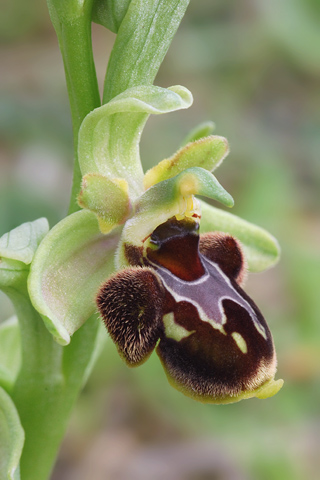
<svg viewBox="0 0 320 480">
<path fill-rule="evenodd" d="M 112 49 L 103 103 L 138 85 L 152 85 L 189 0 L 132 0 Z"/>
</svg>

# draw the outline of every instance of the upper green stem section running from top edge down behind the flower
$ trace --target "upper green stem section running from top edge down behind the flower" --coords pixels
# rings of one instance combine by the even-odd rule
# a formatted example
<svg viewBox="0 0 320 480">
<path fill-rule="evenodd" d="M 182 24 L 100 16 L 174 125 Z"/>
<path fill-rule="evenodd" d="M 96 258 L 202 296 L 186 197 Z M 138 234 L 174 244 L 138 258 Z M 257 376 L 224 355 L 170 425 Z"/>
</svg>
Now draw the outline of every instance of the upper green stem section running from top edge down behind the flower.
<svg viewBox="0 0 320 480">
<path fill-rule="evenodd" d="M 52 0 L 51 0 L 52 2 Z M 80 209 L 81 171 L 78 162 L 78 133 L 82 120 L 101 105 L 91 40 L 90 5 L 72 18 L 64 18 L 54 2 L 48 0 L 49 12 L 61 50 L 69 94 L 74 138 L 74 170 L 69 213 Z M 66 3 L 67 8 L 67 3 Z M 62 18 L 62 20 L 60 20 Z"/>
</svg>

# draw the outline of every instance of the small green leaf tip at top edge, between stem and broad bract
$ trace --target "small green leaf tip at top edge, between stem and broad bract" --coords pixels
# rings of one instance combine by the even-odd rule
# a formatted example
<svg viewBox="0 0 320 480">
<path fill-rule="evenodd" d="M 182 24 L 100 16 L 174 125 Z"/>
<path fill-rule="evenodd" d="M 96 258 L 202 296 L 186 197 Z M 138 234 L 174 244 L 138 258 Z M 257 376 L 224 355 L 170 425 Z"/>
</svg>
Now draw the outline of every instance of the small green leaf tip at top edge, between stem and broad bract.
<svg viewBox="0 0 320 480">
<path fill-rule="evenodd" d="M 92 20 L 114 33 L 129 8 L 131 0 L 93 0 Z"/>
</svg>

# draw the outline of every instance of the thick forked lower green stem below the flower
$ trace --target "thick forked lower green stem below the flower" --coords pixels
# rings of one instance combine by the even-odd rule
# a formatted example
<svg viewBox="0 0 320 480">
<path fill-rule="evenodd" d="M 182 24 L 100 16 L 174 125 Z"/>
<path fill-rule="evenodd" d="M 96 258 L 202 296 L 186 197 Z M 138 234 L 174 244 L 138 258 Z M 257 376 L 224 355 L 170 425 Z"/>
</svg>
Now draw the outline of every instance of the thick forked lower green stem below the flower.
<svg viewBox="0 0 320 480">
<path fill-rule="evenodd" d="M 58 345 L 32 307 L 27 292 L 10 288 L 21 329 L 22 366 L 12 398 L 25 431 L 22 480 L 46 480 L 68 419 L 87 376 L 98 332 L 96 318 L 80 329 L 68 347 Z"/>
</svg>

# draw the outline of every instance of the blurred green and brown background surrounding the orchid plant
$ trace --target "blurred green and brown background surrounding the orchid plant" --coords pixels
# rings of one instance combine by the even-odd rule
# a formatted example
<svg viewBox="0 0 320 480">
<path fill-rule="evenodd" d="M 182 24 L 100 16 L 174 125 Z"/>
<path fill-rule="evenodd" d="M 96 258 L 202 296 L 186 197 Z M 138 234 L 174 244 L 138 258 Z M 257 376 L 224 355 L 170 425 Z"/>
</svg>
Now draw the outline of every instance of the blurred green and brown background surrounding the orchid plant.
<svg viewBox="0 0 320 480">
<path fill-rule="evenodd" d="M 0 234 L 65 215 L 72 131 L 45 0 L 0 17 Z M 115 36 L 93 26 L 100 85 Z M 147 167 L 214 120 L 231 153 L 217 172 L 233 212 L 271 231 L 281 262 L 249 276 L 285 385 L 269 400 L 202 405 L 169 387 L 153 355 L 128 369 L 111 342 L 75 408 L 53 480 L 300 480 L 320 471 L 320 2 L 191 0 L 156 79 L 194 95 L 151 118 Z M 13 313 L 0 296 L 0 320 Z"/>
</svg>

